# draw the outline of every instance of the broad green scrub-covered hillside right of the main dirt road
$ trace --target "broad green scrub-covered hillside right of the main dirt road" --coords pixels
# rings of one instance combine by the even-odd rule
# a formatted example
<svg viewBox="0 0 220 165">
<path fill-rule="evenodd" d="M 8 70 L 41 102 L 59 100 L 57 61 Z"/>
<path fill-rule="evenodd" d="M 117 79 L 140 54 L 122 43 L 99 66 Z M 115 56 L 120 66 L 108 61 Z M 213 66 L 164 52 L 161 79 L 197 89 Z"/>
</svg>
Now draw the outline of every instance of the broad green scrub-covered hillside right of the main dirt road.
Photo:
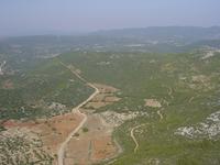
<svg viewBox="0 0 220 165">
<path fill-rule="evenodd" d="M 220 163 L 219 135 L 187 138 L 178 128 L 194 127 L 219 110 L 220 56 L 207 59 L 196 53 L 68 53 L 58 57 L 82 70 L 89 81 L 111 85 L 121 90 L 119 102 L 97 110 L 144 111 L 148 117 L 128 121 L 114 131 L 124 152 L 116 165 L 178 164 L 207 165 Z M 144 99 L 162 103 L 155 109 L 144 106 Z M 163 114 L 160 119 L 157 110 Z M 218 117 L 219 118 L 219 117 Z M 134 154 L 131 128 L 144 124 L 135 132 L 140 148 Z M 219 124 L 213 123 L 213 124 Z"/>
</svg>

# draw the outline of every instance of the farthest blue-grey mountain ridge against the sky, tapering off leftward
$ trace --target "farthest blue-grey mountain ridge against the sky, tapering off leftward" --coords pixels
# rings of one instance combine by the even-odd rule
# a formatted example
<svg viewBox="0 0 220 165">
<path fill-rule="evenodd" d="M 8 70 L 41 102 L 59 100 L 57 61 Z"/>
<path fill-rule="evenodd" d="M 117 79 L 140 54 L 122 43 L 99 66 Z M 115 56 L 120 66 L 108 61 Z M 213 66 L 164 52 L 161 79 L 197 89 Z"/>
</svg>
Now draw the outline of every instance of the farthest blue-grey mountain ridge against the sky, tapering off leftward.
<svg viewBox="0 0 220 165">
<path fill-rule="evenodd" d="M 97 31 L 92 35 L 111 37 L 140 37 L 145 40 L 212 40 L 220 38 L 220 26 L 150 26 L 138 29 L 121 29 L 110 31 Z"/>
</svg>

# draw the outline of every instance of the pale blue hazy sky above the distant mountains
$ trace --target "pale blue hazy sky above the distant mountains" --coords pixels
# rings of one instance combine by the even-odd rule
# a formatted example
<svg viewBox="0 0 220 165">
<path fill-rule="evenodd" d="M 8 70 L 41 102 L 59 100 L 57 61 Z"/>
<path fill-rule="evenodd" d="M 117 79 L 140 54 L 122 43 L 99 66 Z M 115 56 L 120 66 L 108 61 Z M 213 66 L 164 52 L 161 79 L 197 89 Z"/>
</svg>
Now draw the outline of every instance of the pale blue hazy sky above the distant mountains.
<svg viewBox="0 0 220 165">
<path fill-rule="evenodd" d="M 220 25 L 220 0 L 0 0 L 0 35 Z"/>
</svg>

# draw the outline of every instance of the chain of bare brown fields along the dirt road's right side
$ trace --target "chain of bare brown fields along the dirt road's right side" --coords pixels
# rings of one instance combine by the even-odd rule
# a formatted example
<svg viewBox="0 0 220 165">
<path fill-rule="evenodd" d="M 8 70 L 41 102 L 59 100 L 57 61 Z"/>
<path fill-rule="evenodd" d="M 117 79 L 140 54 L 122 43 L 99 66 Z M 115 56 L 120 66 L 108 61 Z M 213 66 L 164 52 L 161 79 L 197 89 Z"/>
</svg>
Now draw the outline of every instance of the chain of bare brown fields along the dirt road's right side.
<svg viewBox="0 0 220 165">
<path fill-rule="evenodd" d="M 66 165 L 100 163 L 112 158 L 120 152 L 112 139 L 114 125 L 108 124 L 101 116 L 94 114 L 92 111 L 97 109 L 96 107 L 90 109 L 92 102 L 101 105 L 107 102 L 106 98 L 109 96 L 116 98 L 114 92 L 118 89 L 98 84 L 94 84 L 94 86 L 99 92 L 84 106 L 86 109 L 80 109 L 81 112 L 87 113 L 87 121 L 66 145 L 64 157 Z M 110 105 L 118 100 L 119 98 L 111 99 L 107 103 Z"/>
</svg>

